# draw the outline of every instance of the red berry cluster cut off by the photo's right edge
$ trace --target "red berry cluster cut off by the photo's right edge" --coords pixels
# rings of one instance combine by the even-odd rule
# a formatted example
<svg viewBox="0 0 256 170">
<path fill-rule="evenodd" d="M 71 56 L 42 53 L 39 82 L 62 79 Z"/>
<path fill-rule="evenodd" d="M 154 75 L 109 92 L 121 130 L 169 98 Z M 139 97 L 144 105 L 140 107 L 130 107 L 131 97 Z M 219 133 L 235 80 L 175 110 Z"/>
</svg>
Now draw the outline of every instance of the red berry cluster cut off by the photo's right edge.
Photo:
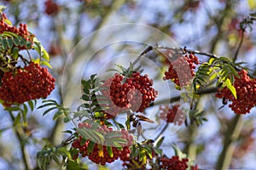
<svg viewBox="0 0 256 170">
<path fill-rule="evenodd" d="M 236 97 L 231 94 L 228 88 L 219 90 L 215 96 L 219 99 L 230 100 L 229 105 L 236 114 L 247 114 L 256 105 L 256 79 L 247 76 L 247 71 L 238 72 L 240 77 L 235 77 L 234 87 L 236 88 Z"/>
</svg>

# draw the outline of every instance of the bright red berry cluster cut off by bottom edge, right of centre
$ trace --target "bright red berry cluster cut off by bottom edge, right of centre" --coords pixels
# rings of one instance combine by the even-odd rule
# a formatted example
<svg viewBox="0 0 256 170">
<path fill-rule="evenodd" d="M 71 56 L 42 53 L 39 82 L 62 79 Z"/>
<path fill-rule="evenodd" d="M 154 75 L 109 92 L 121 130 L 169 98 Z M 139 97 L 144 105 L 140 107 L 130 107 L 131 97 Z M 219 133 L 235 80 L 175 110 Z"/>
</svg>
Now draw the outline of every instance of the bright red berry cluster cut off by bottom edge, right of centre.
<svg viewBox="0 0 256 170">
<path fill-rule="evenodd" d="M 187 169 L 189 159 L 183 158 L 182 160 L 179 159 L 179 156 L 172 156 L 172 158 L 162 157 L 162 169 L 167 170 L 185 170 Z"/>
</svg>

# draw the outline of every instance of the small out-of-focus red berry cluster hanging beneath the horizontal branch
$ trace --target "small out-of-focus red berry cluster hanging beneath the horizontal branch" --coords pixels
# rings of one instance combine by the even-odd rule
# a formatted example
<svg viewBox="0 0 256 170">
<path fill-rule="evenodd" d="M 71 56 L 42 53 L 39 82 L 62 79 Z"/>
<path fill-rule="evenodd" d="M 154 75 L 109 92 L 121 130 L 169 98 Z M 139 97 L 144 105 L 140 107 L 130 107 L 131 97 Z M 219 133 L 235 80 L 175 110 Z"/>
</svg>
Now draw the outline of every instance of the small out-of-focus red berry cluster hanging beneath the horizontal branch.
<svg viewBox="0 0 256 170">
<path fill-rule="evenodd" d="M 181 125 L 184 122 L 183 111 L 178 109 L 179 105 L 160 106 L 160 118 L 166 122 L 173 122 L 175 125 Z"/>
</svg>

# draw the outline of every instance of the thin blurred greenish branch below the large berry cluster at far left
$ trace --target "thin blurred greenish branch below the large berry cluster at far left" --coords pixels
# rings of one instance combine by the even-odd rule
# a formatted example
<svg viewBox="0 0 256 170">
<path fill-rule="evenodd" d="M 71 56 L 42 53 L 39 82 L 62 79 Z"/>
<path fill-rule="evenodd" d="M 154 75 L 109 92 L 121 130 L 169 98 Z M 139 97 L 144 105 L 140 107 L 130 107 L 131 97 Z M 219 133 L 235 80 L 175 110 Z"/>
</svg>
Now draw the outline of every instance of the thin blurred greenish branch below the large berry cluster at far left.
<svg viewBox="0 0 256 170">
<path fill-rule="evenodd" d="M 9 111 L 9 116 L 11 117 L 12 122 L 15 122 L 15 116 L 11 111 Z M 14 127 L 14 131 L 20 144 L 20 151 L 22 154 L 22 161 L 23 161 L 24 167 L 26 170 L 32 169 L 30 156 L 28 151 L 26 150 L 26 144 L 23 139 L 23 136 L 25 133 L 22 132 L 23 130 L 19 130 L 18 127 Z"/>
</svg>

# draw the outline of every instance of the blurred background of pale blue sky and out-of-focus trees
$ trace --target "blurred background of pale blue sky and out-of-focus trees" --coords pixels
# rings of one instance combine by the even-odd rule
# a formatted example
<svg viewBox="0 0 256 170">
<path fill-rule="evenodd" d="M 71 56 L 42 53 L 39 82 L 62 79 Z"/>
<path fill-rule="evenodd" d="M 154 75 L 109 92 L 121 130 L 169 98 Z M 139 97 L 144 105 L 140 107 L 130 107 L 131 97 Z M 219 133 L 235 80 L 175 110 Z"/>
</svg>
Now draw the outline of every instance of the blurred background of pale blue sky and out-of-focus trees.
<svg viewBox="0 0 256 170">
<path fill-rule="evenodd" d="M 57 83 L 48 99 L 55 99 L 67 107 L 73 107 L 79 100 L 77 82 L 80 78 L 99 72 L 104 76 L 105 70 L 102 68 L 113 67 L 113 63 L 127 67 L 148 44 L 159 43 L 173 48 L 187 47 L 233 59 L 241 38 L 239 23 L 256 10 L 255 0 L 1 0 L 0 4 L 6 6 L 4 13 L 13 25 L 26 23 L 28 30 L 38 37 L 49 52 L 53 66 L 51 72 Z M 126 30 L 116 30 L 116 33 L 120 37 L 125 37 L 125 40 L 130 38 L 133 42 L 109 45 L 108 40 L 118 37 L 113 35 L 115 30 L 109 29 L 109 26 L 111 28 L 113 25 L 124 23 L 139 24 L 142 25 L 141 28 L 151 26 L 159 30 L 160 35 L 165 34 L 172 40 L 168 43 L 166 37 L 154 38 L 150 31 L 132 31 L 126 26 Z M 103 36 L 98 34 L 102 32 L 98 31 L 102 28 Z M 247 29 L 236 59 L 236 62 L 247 62 L 244 66 L 251 70 L 249 72 L 253 77 L 256 76 L 255 29 L 255 25 L 251 30 Z M 147 43 L 135 42 L 137 39 Z M 126 60 L 125 54 L 129 54 Z M 154 57 L 154 54 L 148 55 Z M 201 55 L 197 57 L 201 61 L 208 59 Z M 150 62 L 155 63 L 154 59 L 151 60 L 145 59 L 140 65 L 143 65 L 145 73 L 154 78 L 156 89 L 162 94 L 161 97 L 165 98 L 166 88 L 172 89 L 174 86 L 157 82 L 163 76 L 162 69 L 167 67 L 157 65 L 151 68 Z M 177 91 L 170 89 L 167 89 L 168 94 L 172 94 L 172 97 L 178 95 Z M 216 99 L 214 94 L 203 95 L 197 107 L 205 111 L 208 122 L 204 122 L 200 127 L 183 126 L 178 133 L 169 138 L 169 131 L 163 133 L 167 136 L 163 144 L 166 155 L 173 155 L 170 144 L 175 142 L 200 168 L 213 169 L 235 117 L 227 106 L 218 110 L 221 106 L 221 99 Z M 157 107 L 154 107 L 154 116 L 155 113 L 158 113 Z M 234 154 L 230 155 L 230 168 L 256 167 L 255 114 L 256 110 L 253 108 L 250 114 L 242 116 L 241 133 L 238 134 L 238 139 L 232 142 Z M 52 121 L 53 114 L 42 115 L 43 110 L 28 114 L 28 125 L 23 127 L 25 133 L 19 139 L 12 129 L 11 118 L 0 107 L 0 169 L 24 168 L 21 143 L 26 146 L 31 168 L 37 167 L 37 151 L 42 150 L 45 144 L 61 144 L 62 139 L 66 138 L 61 131 L 73 127 L 71 123 L 64 124 L 62 119 Z M 160 129 L 156 129 L 157 132 L 160 132 Z M 145 134 L 147 135 L 146 132 Z M 149 136 L 150 134 L 148 133 Z M 89 163 L 91 168 L 102 168 L 86 159 L 84 162 Z M 117 166 L 121 169 L 121 162 L 109 164 L 107 167 L 117 169 Z M 52 163 L 50 168 L 59 167 Z"/>
</svg>

